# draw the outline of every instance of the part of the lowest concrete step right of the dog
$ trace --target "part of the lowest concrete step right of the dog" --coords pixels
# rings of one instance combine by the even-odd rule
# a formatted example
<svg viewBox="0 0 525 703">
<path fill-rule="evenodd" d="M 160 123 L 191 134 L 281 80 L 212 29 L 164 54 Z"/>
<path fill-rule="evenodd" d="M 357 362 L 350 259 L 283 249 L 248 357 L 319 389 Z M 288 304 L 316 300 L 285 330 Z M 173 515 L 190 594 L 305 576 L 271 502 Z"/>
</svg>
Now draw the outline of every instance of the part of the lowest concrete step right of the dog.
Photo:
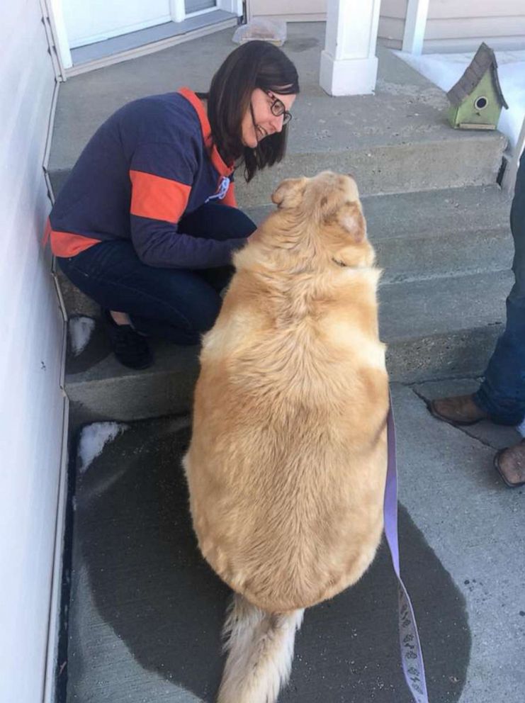
<svg viewBox="0 0 525 703">
<path fill-rule="evenodd" d="M 393 381 L 479 376 L 504 329 L 511 271 L 387 283 L 380 334 Z"/>
</svg>

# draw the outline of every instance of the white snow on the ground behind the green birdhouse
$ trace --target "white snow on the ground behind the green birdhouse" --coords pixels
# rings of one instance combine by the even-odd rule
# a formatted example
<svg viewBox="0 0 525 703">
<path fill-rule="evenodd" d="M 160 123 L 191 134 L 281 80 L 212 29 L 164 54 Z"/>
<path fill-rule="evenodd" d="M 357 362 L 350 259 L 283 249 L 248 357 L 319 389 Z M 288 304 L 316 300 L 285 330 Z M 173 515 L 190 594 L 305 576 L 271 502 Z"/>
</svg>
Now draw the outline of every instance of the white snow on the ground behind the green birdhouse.
<svg viewBox="0 0 525 703">
<path fill-rule="evenodd" d="M 448 91 L 461 78 L 475 52 L 414 56 L 396 51 L 395 54 L 441 90 Z M 503 108 L 497 128 L 507 135 L 514 149 L 525 118 L 525 50 L 496 51 L 495 55 L 499 84 L 509 106 L 508 110 Z"/>
</svg>

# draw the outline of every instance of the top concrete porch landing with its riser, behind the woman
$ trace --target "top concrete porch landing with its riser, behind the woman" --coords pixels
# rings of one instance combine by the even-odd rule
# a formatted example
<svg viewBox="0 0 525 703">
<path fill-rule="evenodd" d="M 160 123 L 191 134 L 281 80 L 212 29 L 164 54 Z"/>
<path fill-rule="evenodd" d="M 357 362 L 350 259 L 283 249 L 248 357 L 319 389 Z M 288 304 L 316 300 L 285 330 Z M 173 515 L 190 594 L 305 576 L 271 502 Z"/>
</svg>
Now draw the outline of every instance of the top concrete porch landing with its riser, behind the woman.
<svg viewBox="0 0 525 703">
<path fill-rule="evenodd" d="M 366 195 L 495 184 L 503 135 L 453 130 L 444 92 L 380 45 L 374 95 L 328 96 L 319 85 L 323 45 L 324 23 L 288 27 L 283 50 L 298 68 L 301 93 L 293 106 L 286 159 L 250 184 L 239 169 L 242 208 L 268 203 L 283 178 L 324 169 L 353 173 Z M 115 109 L 180 84 L 207 89 L 231 50 L 231 31 L 225 30 L 205 43 L 188 42 L 62 84 L 48 164 L 55 196 L 86 142 Z"/>
</svg>

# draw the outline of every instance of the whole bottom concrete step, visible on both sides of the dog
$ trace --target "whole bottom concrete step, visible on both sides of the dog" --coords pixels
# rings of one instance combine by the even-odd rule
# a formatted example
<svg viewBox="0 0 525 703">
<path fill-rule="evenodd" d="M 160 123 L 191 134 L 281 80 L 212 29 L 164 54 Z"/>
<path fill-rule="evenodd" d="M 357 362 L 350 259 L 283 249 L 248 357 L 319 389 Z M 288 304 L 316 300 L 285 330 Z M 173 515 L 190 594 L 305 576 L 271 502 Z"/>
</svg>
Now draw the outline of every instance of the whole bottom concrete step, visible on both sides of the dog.
<svg viewBox="0 0 525 703">
<path fill-rule="evenodd" d="M 485 369 L 504 322 L 512 274 L 490 272 L 430 281 L 385 283 L 380 330 L 393 381 L 472 376 Z M 66 391 L 72 424 L 139 420 L 188 412 L 198 348 L 154 344 L 146 371 L 124 369 L 100 330 L 78 357 L 69 356 Z"/>
</svg>

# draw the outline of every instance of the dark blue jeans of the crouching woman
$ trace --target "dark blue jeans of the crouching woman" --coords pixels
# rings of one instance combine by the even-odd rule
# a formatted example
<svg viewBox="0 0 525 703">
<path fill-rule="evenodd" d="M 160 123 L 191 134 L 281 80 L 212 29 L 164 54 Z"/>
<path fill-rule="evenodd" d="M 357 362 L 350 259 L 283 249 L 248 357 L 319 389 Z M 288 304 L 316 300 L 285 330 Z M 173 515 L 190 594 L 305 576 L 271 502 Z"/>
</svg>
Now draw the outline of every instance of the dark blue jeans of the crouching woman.
<svg viewBox="0 0 525 703">
<path fill-rule="evenodd" d="M 241 210 L 208 203 L 181 219 L 181 231 L 215 240 L 256 230 Z M 188 271 L 142 264 L 130 240 L 108 240 L 57 261 L 67 278 L 102 308 L 128 313 L 137 332 L 175 344 L 198 344 L 213 327 L 233 266 Z"/>
</svg>

